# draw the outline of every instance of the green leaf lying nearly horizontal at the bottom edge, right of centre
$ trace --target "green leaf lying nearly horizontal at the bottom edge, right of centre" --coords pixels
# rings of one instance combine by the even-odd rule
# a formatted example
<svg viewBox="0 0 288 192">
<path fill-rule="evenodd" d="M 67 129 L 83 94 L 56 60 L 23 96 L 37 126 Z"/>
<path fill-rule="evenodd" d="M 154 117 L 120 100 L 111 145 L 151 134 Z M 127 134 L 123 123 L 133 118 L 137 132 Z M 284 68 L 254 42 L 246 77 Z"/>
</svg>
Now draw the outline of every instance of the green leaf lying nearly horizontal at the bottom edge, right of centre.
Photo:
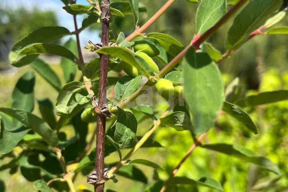
<svg viewBox="0 0 288 192">
<path fill-rule="evenodd" d="M 171 179 L 171 184 L 192 184 L 196 186 L 209 187 L 211 189 L 217 189 L 223 191 L 220 183 L 211 177 L 202 177 L 199 180 L 189 179 L 187 177 L 174 177 Z"/>
</svg>

